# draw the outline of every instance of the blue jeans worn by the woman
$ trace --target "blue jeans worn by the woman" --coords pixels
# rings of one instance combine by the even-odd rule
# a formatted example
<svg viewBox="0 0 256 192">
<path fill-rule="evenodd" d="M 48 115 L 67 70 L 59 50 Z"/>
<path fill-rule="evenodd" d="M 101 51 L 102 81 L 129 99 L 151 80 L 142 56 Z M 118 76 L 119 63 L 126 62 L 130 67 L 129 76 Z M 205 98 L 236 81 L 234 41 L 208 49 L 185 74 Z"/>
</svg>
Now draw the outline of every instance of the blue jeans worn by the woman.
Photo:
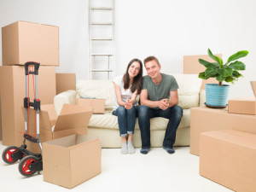
<svg viewBox="0 0 256 192">
<path fill-rule="evenodd" d="M 134 133 L 137 109 L 138 106 L 133 106 L 131 109 L 119 106 L 112 112 L 113 115 L 118 116 L 120 137 L 126 137 L 127 134 Z"/>
</svg>

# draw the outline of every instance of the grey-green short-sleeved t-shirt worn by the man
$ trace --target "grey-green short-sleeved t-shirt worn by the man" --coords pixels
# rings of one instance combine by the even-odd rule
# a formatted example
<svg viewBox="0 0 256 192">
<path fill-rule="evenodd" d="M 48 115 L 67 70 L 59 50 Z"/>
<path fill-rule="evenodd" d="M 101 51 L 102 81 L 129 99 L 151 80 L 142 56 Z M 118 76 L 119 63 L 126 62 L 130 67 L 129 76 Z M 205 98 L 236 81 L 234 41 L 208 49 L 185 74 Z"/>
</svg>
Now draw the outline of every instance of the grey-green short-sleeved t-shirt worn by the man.
<svg viewBox="0 0 256 192">
<path fill-rule="evenodd" d="M 153 83 L 148 75 L 143 77 L 143 90 L 148 90 L 148 100 L 150 101 L 170 99 L 170 91 L 178 89 L 177 81 L 172 75 L 164 73 L 161 73 L 161 75 L 162 80 L 160 84 L 157 85 Z"/>
</svg>

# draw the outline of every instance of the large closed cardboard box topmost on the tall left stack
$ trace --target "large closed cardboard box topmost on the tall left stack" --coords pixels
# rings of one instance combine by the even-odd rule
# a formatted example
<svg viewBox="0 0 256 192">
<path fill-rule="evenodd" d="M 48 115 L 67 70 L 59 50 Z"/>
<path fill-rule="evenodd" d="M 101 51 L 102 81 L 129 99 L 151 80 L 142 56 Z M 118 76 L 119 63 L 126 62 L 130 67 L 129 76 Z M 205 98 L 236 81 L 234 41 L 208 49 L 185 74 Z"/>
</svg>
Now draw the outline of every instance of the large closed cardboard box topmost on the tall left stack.
<svg viewBox="0 0 256 192">
<path fill-rule="evenodd" d="M 3 66 L 37 61 L 59 66 L 59 27 L 16 21 L 2 27 Z"/>
</svg>

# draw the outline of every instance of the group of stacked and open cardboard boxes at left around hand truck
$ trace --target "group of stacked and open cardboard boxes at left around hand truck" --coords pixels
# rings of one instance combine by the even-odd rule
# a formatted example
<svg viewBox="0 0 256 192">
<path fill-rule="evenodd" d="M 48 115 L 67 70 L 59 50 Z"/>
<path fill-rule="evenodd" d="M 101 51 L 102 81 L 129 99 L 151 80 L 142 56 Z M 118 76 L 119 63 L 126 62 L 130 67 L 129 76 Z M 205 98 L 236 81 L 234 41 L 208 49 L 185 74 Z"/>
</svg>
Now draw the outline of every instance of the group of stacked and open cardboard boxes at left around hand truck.
<svg viewBox="0 0 256 192">
<path fill-rule="evenodd" d="M 20 146 L 25 131 L 23 99 L 26 96 L 24 64 L 40 63 L 38 98 L 40 142 L 43 143 L 44 181 L 69 189 L 101 173 L 101 146 L 97 137 L 87 135 L 92 108 L 64 105 L 57 116 L 53 105 L 56 90 L 75 90 L 74 74 L 55 74 L 59 66 L 59 28 L 57 26 L 17 21 L 2 28 L 3 66 L 0 67 L 0 105 L 3 145 Z M 63 79 L 65 88 L 62 87 Z M 72 79 L 72 81 L 70 81 Z M 56 89 L 56 82 L 59 84 Z M 29 79 L 30 100 L 34 98 L 32 75 Z M 23 112 L 22 112 L 23 111 Z M 34 110 L 29 109 L 30 134 Z M 1 132 L 1 131 L 0 131 Z M 1 136 L 1 135 L 0 135 Z M 37 143 L 26 142 L 27 148 L 40 153 Z"/>
</svg>

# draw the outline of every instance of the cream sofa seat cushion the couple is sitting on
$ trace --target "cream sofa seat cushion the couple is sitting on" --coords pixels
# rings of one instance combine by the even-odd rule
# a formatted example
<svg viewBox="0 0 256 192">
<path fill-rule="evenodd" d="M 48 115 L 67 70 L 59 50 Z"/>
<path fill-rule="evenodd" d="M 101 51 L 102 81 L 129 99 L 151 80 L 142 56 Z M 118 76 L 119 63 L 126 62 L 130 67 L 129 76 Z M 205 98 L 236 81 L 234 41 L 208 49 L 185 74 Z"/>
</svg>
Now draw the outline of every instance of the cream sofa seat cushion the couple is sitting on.
<svg viewBox="0 0 256 192">
<path fill-rule="evenodd" d="M 150 119 L 151 130 L 166 130 L 168 119 L 165 118 L 153 118 Z M 111 111 L 106 111 L 104 114 L 93 114 L 90 118 L 89 127 L 100 127 L 105 129 L 118 130 L 117 116 L 112 115 Z M 183 109 L 183 118 L 178 128 L 190 126 L 190 109 Z M 135 129 L 139 129 L 138 120 L 136 119 Z"/>
</svg>

